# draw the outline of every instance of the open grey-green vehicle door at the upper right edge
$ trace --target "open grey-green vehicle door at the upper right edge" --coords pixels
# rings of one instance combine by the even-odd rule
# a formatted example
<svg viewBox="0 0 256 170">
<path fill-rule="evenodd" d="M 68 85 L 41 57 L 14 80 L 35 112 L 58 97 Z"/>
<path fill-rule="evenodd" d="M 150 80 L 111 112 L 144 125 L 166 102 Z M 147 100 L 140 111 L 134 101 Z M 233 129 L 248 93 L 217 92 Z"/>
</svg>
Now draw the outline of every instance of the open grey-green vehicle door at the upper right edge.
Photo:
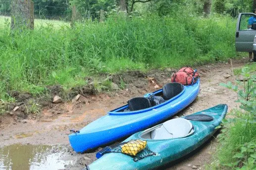
<svg viewBox="0 0 256 170">
<path fill-rule="evenodd" d="M 248 21 L 250 17 L 256 17 L 254 13 L 240 13 L 236 26 L 236 51 L 253 51 L 254 37 L 256 30 L 252 30 Z"/>
</svg>

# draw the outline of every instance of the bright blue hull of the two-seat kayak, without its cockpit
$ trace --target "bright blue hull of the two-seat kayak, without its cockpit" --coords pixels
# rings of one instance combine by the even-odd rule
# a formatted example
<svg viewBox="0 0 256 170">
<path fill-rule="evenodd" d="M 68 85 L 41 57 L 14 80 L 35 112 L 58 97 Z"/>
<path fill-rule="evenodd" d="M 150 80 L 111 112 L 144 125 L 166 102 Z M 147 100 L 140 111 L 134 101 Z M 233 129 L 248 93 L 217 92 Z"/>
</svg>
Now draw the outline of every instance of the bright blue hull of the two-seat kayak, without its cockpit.
<svg viewBox="0 0 256 170">
<path fill-rule="evenodd" d="M 126 106 L 117 108 L 82 128 L 79 133 L 70 134 L 70 145 L 74 151 L 82 153 L 157 125 L 192 103 L 199 90 L 200 80 L 195 85 L 184 86 L 180 94 L 160 105 L 133 112 L 118 112 Z"/>
</svg>

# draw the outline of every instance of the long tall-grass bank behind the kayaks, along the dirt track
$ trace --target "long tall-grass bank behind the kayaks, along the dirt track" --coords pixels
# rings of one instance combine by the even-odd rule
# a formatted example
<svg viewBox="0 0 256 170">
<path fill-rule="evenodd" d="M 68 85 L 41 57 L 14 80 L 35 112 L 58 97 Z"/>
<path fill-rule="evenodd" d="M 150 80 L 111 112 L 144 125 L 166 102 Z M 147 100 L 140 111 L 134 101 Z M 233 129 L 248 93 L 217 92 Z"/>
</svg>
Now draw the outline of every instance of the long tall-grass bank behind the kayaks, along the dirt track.
<svg viewBox="0 0 256 170">
<path fill-rule="evenodd" d="M 99 73 L 225 60 L 236 55 L 235 23 L 221 16 L 119 15 L 74 29 L 48 24 L 10 32 L 6 24 L 0 30 L 0 98 L 9 90 L 38 94 L 47 85 L 84 85 L 85 76 Z"/>
</svg>

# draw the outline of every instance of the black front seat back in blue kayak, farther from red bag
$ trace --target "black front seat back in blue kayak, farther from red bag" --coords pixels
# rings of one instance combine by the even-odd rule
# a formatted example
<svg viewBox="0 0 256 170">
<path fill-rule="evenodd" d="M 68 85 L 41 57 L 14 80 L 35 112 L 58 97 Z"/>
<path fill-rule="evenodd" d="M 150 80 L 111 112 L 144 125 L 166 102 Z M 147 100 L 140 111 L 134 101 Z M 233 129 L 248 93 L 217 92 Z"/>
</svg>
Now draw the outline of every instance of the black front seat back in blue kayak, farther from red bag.
<svg viewBox="0 0 256 170">
<path fill-rule="evenodd" d="M 128 101 L 128 108 L 130 111 L 136 111 L 152 107 L 151 102 L 145 97 L 134 97 Z"/>
</svg>

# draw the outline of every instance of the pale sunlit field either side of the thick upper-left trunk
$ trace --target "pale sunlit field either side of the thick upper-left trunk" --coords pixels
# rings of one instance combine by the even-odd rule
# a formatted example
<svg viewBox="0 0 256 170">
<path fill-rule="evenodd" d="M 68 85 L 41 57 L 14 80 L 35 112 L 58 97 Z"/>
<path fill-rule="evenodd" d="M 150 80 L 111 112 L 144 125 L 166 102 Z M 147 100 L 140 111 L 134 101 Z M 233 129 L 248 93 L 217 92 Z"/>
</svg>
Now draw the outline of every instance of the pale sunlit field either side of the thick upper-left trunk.
<svg viewBox="0 0 256 170">
<path fill-rule="evenodd" d="M 10 23 L 11 18 L 9 16 L 0 16 L 0 29 L 5 28 L 4 25 Z M 46 27 L 52 25 L 54 28 L 60 28 L 62 26 L 70 27 L 70 23 L 61 20 L 47 20 L 47 19 L 35 19 L 35 28 Z"/>
</svg>

